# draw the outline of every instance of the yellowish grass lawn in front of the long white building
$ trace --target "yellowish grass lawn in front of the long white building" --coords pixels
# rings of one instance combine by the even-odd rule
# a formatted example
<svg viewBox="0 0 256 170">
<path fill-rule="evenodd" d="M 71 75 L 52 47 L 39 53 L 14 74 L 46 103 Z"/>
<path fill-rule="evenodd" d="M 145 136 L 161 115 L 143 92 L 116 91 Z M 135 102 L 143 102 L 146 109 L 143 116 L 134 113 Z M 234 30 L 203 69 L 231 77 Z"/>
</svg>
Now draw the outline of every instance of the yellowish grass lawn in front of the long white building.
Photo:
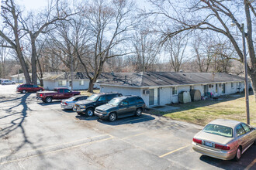
<svg viewBox="0 0 256 170">
<path fill-rule="evenodd" d="M 237 94 L 235 94 L 237 95 Z M 233 119 L 246 122 L 244 93 L 240 97 L 222 97 L 220 100 L 200 100 L 188 104 L 171 104 L 179 107 L 169 113 L 150 110 L 151 114 L 162 115 L 177 121 L 187 121 L 192 124 L 206 125 L 217 118 Z M 250 123 L 256 127 L 256 102 L 250 95 Z"/>
</svg>

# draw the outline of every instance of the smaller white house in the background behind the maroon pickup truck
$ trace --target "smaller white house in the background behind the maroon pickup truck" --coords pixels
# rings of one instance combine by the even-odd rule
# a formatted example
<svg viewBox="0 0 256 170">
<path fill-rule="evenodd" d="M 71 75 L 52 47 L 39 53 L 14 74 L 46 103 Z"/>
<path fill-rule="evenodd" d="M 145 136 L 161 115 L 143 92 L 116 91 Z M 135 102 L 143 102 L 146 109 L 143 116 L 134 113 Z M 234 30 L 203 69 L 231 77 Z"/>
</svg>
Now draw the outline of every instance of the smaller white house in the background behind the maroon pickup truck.
<svg viewBox="0 0 256 170">
<path fill-rule="evenodd" d="M 85 73 L 73 73 L 73 90 L 87 90 L 89 78 Z M 54 87 L 67 87 L 71 89 L 71 73 L 51 73 L 43 77 L 43 87 L 47 90 L 53 90 Z M 94 88 L 99 88 L 95 85 Z"/>
</svg>

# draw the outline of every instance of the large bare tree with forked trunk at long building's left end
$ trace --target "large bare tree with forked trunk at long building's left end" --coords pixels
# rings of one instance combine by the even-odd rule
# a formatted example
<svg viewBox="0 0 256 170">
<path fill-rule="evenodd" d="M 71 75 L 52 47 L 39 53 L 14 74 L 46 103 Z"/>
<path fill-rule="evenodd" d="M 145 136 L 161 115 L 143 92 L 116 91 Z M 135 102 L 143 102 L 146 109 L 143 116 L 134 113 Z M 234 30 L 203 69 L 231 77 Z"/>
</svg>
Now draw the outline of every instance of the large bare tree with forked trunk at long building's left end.
<svg viewBox="0 0 256 170">
<path fill-rule="evenodd" d="M 102 73 L 103 65 L 107 59 L 126 55 L 121 43 L 128 40 L 128 32 L 133 29 L 133 2 L 128 0 L 113 0 L 111 2 L 95 0 L 85 8 L 84 17 L 93 35 L 90 43 L 90 53 L 86 63 L 78 56 L 89 77 L 88 91 Z M 92 71 L 92 74 L 90 72 Z"/>
</svg>

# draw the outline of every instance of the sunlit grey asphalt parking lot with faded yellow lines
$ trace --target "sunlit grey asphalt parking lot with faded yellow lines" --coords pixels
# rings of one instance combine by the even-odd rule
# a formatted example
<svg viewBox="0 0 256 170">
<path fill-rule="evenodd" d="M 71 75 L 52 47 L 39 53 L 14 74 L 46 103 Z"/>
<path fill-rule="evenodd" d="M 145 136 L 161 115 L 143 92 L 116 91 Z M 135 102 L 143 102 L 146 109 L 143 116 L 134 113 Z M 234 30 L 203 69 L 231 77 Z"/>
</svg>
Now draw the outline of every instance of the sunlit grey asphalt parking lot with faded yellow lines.
<svg viewBox="0 0 256 170">
<path fill-rule="evenodd" d="M 115 122 L 45 104 L 0 85 L 0 169 L 256 169 L 256 147 L 240 162 L 192 151 L 202 127 L 143 114 Z"/>
</svg>

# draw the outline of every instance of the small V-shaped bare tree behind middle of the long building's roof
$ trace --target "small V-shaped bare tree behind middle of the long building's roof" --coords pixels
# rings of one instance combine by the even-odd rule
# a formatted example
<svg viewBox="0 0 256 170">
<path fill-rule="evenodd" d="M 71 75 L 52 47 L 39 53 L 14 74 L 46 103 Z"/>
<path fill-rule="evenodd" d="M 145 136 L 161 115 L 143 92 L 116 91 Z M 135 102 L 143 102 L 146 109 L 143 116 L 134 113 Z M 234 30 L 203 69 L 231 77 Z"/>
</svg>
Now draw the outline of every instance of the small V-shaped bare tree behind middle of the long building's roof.
<svg viewBox="0 0 256 170">
<path fill-rule="evenodd" d="M 181 70 L 182 60 L 185 57 L 185 49 L 188 45 L 187 35 L 177 35 L 165 42 L 165 51 L 170 56 L 170 64 L 175 72 Z"/>
</svg>

